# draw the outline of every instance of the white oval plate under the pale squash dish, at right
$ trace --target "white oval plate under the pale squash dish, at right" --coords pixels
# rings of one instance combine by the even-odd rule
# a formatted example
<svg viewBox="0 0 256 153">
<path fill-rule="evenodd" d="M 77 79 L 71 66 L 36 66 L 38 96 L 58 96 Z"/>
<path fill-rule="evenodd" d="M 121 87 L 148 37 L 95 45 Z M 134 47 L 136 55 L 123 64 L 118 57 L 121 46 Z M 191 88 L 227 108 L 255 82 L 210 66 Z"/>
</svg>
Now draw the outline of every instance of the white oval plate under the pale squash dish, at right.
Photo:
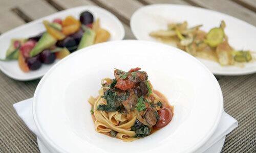
<svg viewBox="0 0 256 153">
<path fill-rule="evenodd" d="M 188 22 L 189 27 L 203 24 L 202 30 L 218 27 L 221 20 L 226 22 L 225 33 L 234 49 L 249 49 L 256 52 L 256 28 L 232 16 L 198 7 L 156 4 L 139 8 L 131 18 L 131 29 L 139 40 L 157 41 L 150 37 L 152 31 L 167 29 L 169 22 Z M 198 58 L 212 73 L 218 75 L 242 75 L 256 72 L 256 62 L 245 67 L 221 66 L 217 62 Z"/>
</svg>

